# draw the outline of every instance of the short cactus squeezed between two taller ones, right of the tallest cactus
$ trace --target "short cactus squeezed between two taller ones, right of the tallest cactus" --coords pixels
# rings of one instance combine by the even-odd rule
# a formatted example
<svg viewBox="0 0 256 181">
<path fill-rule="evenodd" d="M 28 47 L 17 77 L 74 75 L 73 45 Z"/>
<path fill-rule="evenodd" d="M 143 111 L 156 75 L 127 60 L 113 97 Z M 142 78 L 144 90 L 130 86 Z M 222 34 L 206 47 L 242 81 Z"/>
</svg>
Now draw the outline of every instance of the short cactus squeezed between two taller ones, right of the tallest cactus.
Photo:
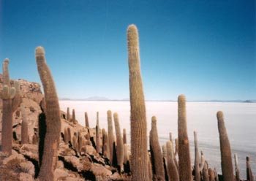
<svg viewBox="0 0 256 181">
<path fill-rule="evenodd" d="M 167 141 L 166 149 L 167 149 L 167 173 L 168 173 L 169 181 L 178 181 L 179 176 L 178 176 L 178 169 L 174 162 L 173 143 L 170 141 Z"/>
</svg>

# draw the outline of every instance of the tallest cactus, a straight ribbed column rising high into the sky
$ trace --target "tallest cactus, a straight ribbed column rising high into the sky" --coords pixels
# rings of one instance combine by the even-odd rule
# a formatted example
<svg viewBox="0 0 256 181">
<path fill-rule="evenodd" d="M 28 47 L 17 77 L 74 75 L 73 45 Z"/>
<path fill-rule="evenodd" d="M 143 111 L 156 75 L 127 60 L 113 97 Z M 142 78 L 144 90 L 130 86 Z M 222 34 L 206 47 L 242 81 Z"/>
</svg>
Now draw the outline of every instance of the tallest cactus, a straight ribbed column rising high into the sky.
<svg viewBox="0 0 256 181">
<path fill-rule="evenodd" d="M 131 168 L 132 180 L 148 180 L 148 145 L 146 106 L 140 74 L 138 29 L 130 25 L 127 30 L 129 63 L 129 100 L 131 107 Z"/>
</svg>

